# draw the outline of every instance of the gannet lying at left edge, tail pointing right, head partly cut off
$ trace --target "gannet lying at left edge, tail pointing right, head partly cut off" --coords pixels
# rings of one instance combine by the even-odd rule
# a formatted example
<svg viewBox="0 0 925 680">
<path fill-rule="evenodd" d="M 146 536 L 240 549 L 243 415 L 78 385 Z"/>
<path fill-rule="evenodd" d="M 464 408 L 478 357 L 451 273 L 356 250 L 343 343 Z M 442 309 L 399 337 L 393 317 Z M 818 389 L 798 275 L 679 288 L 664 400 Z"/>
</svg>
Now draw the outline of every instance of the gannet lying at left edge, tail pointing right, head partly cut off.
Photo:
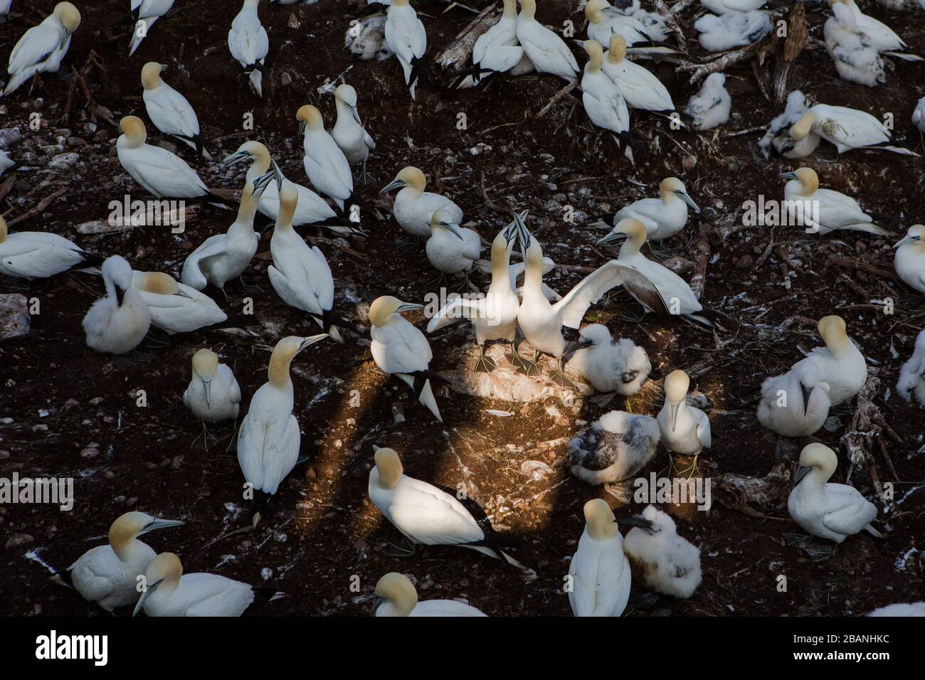
<svg viewBox="0 0 925 680">
<path fill-rule="evenodd" d="M 66 271 L 89 271 L 103 258 L 50 231 L 10 234 L 0 216 L 0 274 L 12 278 L 49 278 Z"/>
</svg>

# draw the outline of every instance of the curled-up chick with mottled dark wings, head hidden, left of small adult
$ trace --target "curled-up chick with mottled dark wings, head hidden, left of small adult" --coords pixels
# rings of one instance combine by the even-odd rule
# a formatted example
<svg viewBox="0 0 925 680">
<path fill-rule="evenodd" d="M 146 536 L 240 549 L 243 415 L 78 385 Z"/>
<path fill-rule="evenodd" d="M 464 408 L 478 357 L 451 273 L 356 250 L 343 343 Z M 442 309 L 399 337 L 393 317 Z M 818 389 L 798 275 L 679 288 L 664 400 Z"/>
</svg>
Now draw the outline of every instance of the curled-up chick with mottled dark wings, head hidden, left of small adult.
<svg viewBox="0 0 925 680">
<path fill-rule="evenodd" d="M 648 465 L 660 439 L 655 418 L 611 411 L 569 441 L 569 470 L 595 486 L 623 481 Z"/>
</svg>

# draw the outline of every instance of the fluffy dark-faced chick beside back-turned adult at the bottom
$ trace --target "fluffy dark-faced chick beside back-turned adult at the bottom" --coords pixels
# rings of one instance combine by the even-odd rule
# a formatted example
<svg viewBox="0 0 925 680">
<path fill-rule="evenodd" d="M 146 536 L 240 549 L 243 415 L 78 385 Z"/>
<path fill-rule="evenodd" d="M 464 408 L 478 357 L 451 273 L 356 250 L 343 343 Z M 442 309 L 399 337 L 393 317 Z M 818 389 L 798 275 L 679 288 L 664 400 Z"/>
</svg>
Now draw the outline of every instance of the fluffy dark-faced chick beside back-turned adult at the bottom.
<svg viewBox="0 0 925 680">
<path fill-rule="evenodd" d="M 635 578 L 653 592 L 686 600 L 703 577 L 700 549 L 678 536 L 671 516 L 654 505 L 646 506 L 642 520 L 623 538 L 623 552 Z"/>
</svg>

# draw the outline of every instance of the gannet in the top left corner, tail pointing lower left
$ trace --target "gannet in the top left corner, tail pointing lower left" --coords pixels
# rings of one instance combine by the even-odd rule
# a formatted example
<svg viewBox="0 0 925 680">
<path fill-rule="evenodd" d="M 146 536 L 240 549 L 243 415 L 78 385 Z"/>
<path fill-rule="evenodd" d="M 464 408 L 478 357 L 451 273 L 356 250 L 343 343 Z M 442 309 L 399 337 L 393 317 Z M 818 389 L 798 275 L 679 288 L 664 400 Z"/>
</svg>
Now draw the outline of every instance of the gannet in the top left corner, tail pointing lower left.
<svg viewBox="0 0 925 680">
<path fill-rule="evenodd" d="M 56 73 L 68 54 L 70 37 L 80 26 L 80 12 L 70 3 L 58 3 L 38 26 L 23 33 L 9 53 L 8 80 L 3 96 L 39 73 Z"/>
</svg>

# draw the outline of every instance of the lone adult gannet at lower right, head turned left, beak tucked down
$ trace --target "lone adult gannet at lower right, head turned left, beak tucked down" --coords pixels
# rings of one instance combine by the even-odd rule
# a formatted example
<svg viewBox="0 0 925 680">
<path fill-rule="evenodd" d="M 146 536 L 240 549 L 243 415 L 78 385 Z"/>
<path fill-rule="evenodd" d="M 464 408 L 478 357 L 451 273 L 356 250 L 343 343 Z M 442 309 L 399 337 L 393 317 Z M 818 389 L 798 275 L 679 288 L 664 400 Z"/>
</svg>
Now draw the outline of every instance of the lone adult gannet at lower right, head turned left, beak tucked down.
<svg viewBox="0 0 925 680">
<path fill-rule="evenodd" d="M 877 506 L 864 498 L 857 488 L 829 482 L 836 467 L 838 456 L 825 444 L 809 444 L 800 452 L 795 486 L 787 498 L 790 516 L 813 536 L 835 543 L 864 530 L 882 538 L 882 534 L 870 525 L 877 519 Z M 835 550 L 833 546 L 819 551 L 831 555 Z"/>
</svg>

